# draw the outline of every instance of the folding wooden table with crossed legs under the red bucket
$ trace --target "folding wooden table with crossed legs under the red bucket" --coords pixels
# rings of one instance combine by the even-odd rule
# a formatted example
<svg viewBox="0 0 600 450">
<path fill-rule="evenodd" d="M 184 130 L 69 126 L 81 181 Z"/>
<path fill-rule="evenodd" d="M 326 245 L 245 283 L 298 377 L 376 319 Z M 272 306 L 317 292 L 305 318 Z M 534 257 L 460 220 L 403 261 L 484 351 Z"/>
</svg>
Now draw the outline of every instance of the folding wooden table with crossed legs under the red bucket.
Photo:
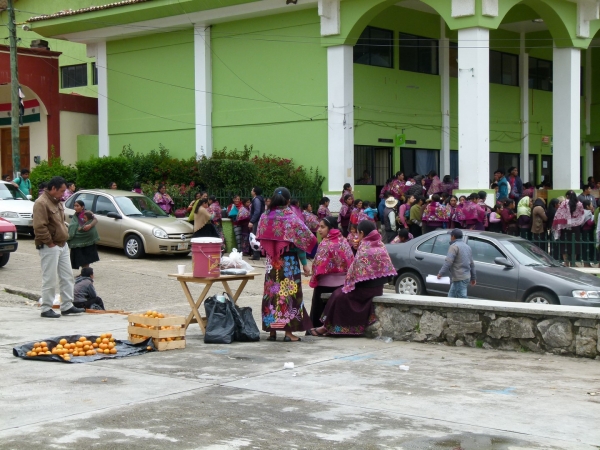
<svg viewBox="0 0 600 450">
<path fill-rule="evenodd" d="M 187 329 L 187 327 L 190 325 L 190 323 L 196 322 L 196 323 L 198 323 L 198 325 L 200 325 L 200 329 L 202 330 L 202 333 L 205 332 L 206 328 L 204 326 L 204 321 L 202 320 L 203 318 L 200 315 L 200 311 L 198 311 L 198 308 L 200 308 L 200 306 L 202 305 L 202 302 L 206 299 L 206 295 L 208 294 L 208 291 L 210 290 L 210 288 L 212 287 L 213 284 L 221 282 L 221 284 L 223 284 L 223 288 L 225 289 L 225 292 L 227 292 L 231 296 L 231 298 L 233 299 L 233 302 L 235 303 L 235 302 L 237 302 L 237 299 L 239 298 L 240 294 L 246 287 L 246 284 L 248 283 L 248 281 L 254 280 L 254 277 L 257 277 L 257 276 L 260 276 L 260 274 L 256 273 L 256 272 L 247 273 L 246 275 L 221 275 L 220 277 L 216 277 L 216 278 L 195 278 L 191 273 L 184 273 L 183 275 L 169 274 L 169 278 L 176 278 L 177 281 L 179 281 L 179 283 L 181 283 L 181 288 L 183 289 L 183 293 L 185 294 L 185 297 L 188 299 L 190 307 L 192 308 L 192 312 L 190 312 L 190 314 L 188 315 L 188 317 L 185 321 L 185 328 Z M 242 282 L 239 285 L 239 287 L 237 288 L 237 291 L 235 291 L 235 294 L 233 292 L 231 292 L 231 289 L 229 287 L 229 281 L 241 281 Z M 198 283 L 198 284 L 206 285 L 206 286 L 204 286 L 202 293 L 198 297 L 198 300 L 194 301 L 194 298 L 192 297 L 192 293 L 190 292 L 190 288 L 188 287 L 188 283 Z"/>
</svg>

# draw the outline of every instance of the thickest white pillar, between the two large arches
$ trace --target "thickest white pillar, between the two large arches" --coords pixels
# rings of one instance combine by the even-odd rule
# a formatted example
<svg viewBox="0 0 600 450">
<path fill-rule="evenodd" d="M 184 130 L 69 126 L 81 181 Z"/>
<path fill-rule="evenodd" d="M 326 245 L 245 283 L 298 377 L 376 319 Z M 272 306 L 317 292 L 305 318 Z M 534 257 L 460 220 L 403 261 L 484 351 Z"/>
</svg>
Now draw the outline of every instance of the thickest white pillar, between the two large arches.
<svg viewBox="0 0 600 450">
<path fill-rule="evenodd" d="M 458 30 L 458 174 L 461 189 L 489 189 L 489 30 Z"/>
</svg>

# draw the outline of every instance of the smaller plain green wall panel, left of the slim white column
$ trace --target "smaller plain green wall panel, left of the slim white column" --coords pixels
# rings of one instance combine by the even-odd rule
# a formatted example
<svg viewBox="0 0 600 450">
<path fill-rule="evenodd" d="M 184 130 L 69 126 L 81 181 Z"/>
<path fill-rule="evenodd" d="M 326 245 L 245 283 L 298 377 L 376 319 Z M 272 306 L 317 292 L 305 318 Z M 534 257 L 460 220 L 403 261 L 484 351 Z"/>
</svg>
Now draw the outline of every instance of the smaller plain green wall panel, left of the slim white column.
<svg viewBox="0 0 600 450">
<path fill-rule="evenodd" d="M 110 154 L 162 144 L 174 157 L 193 156 L 193 30 L 110 41 L 106 52 Z"/>
</svg>

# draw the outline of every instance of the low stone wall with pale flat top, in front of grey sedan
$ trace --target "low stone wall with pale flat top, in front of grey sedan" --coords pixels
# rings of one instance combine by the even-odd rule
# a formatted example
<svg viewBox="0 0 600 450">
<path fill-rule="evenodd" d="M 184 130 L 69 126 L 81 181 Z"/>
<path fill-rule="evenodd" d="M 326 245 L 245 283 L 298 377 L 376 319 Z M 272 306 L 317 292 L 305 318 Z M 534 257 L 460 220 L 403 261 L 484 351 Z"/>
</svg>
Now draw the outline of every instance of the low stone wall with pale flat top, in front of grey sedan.
<svg viewBox="0 0 600 450">
<path fill-rule="evenodd" d="M 369 337 L 600 359 L 600 308 L 388 294 Z"/>
</svg>

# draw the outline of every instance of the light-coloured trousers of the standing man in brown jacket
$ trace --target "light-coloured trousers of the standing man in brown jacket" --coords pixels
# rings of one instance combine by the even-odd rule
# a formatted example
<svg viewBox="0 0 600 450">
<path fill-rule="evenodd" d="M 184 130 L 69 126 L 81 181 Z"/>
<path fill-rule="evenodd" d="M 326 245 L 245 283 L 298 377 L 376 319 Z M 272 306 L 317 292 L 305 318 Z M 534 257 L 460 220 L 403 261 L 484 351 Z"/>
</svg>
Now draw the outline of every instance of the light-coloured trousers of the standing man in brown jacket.
<svg viewBox="0 0 600 450">
<path fill-rule="evenodd" d="M 42 312 L 52 309 L 56 294 L 56 277 L 60 284 L 60 309 L 66 311 L 73 306 L 73 271 L 69 246 L 55 245 L 50 248 L 44 245 L 38 250 L 42 260 Z"/>
</svg>

